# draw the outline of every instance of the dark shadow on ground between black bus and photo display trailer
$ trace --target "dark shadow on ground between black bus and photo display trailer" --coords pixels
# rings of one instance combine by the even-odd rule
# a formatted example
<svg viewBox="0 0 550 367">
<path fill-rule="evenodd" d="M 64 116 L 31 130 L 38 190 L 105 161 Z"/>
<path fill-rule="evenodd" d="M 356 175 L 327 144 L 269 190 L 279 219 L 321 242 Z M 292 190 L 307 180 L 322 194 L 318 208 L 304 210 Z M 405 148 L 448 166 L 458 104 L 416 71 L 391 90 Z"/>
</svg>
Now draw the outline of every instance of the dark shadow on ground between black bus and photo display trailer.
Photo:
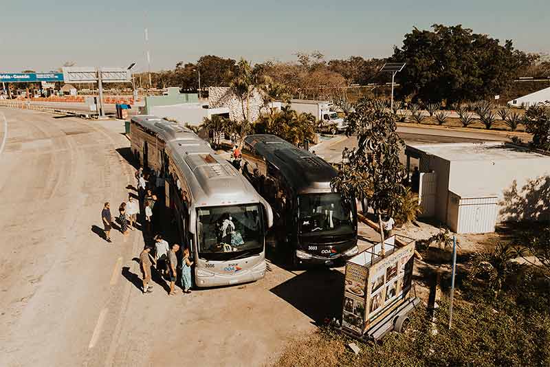
<svg viewBox="0 0 550 367">
<path fill-rule="evenodd" d="M 308 270 L 270 291 L 321 326 L 325 318 L 342 314 L 344 274 L 333 269 Z"/>
</svg>

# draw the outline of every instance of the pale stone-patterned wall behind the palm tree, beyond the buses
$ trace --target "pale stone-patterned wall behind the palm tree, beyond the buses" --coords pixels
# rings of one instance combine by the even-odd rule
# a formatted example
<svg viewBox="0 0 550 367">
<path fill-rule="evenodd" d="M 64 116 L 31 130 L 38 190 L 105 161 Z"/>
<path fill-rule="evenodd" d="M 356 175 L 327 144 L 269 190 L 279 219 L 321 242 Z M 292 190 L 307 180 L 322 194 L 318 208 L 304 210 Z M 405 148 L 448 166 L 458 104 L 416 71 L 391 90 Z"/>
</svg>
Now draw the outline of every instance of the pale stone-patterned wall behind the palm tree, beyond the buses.
<svg viewBox="0 0 550 367">
<path fill-rule="evenodd" d="M 243 121 L 246 119 L 246 100 L 241 100 L 229 87 L 208 88 L 208 106 L 213 108 L 227 107 L 231 120 Z M 254 89 L 249 100 L 250 122 L 258 119 L 262 107 L 263 99 L 261 93 L 257 89 Z"/>
</svg>

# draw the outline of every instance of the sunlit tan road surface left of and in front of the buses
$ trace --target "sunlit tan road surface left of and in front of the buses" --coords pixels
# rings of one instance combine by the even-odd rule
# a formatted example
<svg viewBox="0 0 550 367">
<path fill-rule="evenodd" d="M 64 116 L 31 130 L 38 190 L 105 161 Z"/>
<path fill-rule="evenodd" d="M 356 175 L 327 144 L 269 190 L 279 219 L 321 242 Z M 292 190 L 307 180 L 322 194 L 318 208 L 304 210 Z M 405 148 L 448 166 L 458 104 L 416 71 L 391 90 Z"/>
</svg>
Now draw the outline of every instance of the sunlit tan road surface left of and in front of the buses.
<svg viewBox="0 0 550 367">
<path fill-rule="evenodd" d="M 272 262 L 251 284 L 142 295 L 142 233 L 100 238 L 134 181 L 123 124 L 0 113 L 1 366 L 261 366 L 341 310 L 342 269 Z"/>
</svg>

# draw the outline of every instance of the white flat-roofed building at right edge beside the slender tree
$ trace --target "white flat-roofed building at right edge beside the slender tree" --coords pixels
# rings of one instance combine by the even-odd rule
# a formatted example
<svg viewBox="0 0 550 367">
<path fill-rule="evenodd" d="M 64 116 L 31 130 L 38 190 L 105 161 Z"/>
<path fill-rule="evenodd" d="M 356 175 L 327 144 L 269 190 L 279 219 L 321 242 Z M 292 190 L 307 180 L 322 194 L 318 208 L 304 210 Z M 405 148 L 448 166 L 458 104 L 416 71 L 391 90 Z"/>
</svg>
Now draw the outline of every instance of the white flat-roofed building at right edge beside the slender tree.
<svg viewBox="0 0 550 367">
<path fill-rule="evenodd" d="M 550 219 L 550 156 L 501 142 L 408 145 L 405 153 L 419 159 L 424 215 L 454 232 Z"/>
</svg>

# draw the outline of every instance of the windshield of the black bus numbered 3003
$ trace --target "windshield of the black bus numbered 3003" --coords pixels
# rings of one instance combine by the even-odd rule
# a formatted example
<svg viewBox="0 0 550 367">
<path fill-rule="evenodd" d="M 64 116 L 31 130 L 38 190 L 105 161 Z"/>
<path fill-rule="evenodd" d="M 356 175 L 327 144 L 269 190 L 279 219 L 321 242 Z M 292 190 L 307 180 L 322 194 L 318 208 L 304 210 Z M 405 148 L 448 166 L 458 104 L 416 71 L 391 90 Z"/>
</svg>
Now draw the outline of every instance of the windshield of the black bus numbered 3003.
<svg viewBox="0 0 550 367">
<path fill-rule="evenodd" d="M 351 201 L 338 193 L 298 196 L 300 234 L 347 233 L 355 228 Z"/>
</svg>

